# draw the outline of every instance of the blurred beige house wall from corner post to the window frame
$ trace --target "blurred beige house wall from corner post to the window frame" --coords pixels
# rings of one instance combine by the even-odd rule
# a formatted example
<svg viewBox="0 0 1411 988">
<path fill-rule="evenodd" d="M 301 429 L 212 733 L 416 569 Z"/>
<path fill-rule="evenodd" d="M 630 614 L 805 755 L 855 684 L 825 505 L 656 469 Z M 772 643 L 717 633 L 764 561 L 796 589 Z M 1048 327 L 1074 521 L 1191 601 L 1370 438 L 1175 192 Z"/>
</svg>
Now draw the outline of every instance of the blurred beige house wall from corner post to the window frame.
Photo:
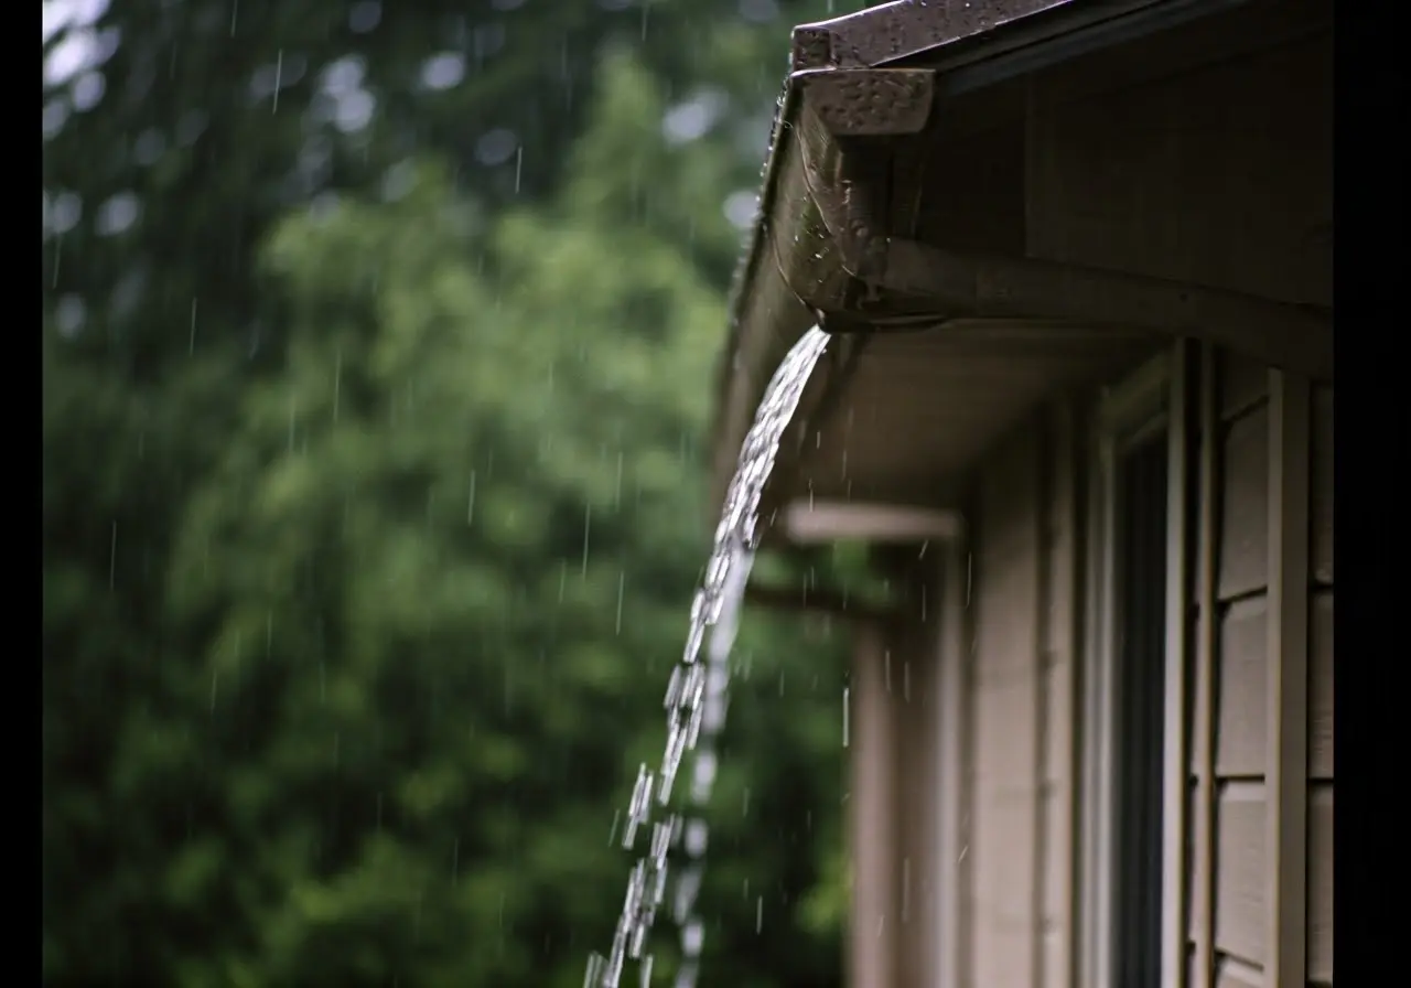
<svg viewBox="0 0 1411 988">
<path fill-rule="evenodd" d="M 916 613 L 858 628 L 854 988 L 1077 984 L 1077 422 L 1012 430 Z"/>
</svg>

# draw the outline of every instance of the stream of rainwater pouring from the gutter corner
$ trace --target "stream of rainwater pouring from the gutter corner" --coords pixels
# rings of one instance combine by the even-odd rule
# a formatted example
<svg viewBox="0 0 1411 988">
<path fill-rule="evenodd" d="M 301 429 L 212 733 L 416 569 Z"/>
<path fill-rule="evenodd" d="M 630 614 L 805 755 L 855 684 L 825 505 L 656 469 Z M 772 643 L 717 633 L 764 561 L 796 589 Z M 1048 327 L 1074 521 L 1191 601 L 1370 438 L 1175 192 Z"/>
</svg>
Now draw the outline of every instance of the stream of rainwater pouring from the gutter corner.
<svg viewBox="0 0 1411 988">
<path fill-rule="evenodd" d="M 650 824 L 649 853 L 638 860 L 628 878 L 622 916 L 612 937 L 612 950 L 604 958 L 593 954 L 584 988 L 617 988 L 626 958 L 642 961 L 642 984 L 652 970 L 650 956 L 642 948 L 666 898 L 667 851 L 684 844 L 686 867 L 676 879 L 672 917 L 682 932 L 682 968 L 676 988 L 694 988 L 706 927 L 696 913 L 696 896 L 704 875 L 707 827 L 700 810 L 710 800 L 715 781 L 715 740 L 725 725 L 727 687 L 729 685 L 729 649 L 735 641 L 739 604 L 755 559 L 759 521 L 759 497 L 775 466 L 779 440 L 793 419 L 809 375 L 828 346 L 828 336 L 814 327 L 794 344 L 765 390 L 755 412 L 755 422 L 745 436 L 735 476 L 725 493 L 725 507 L 715 528 L 715 543 L 706 579 L 691 604 L 690 629 L 680 663 L 672 669 L 666 686 L 666 752 L 656 772 L 642 765 L 628 805 L 622 847 L 631 850 L 638 831 Z M 710 645 L 706 662 L 698 662 L 706 632 Z M 670 813 L 652 821 L 652 803 L 669 806 L 672 786 L 687 751 L 694 752 L 686 812 Z"/>
</svg>

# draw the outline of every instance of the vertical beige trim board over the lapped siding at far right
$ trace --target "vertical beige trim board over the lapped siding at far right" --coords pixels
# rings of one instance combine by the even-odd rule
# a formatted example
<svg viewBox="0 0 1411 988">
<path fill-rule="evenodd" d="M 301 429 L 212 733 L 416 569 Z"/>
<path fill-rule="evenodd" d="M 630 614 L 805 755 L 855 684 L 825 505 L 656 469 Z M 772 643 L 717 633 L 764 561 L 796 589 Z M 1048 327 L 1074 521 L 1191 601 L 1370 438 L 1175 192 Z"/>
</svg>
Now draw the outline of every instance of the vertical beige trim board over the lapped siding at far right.
<svg viewBox="0 0 1411 988">
<path fill-rule="evenodd" d="M 1270 985 L 1301 985 L 1308 957 L 1307 378 L 1268 374 L 1268 946 Z"/>
</svg>

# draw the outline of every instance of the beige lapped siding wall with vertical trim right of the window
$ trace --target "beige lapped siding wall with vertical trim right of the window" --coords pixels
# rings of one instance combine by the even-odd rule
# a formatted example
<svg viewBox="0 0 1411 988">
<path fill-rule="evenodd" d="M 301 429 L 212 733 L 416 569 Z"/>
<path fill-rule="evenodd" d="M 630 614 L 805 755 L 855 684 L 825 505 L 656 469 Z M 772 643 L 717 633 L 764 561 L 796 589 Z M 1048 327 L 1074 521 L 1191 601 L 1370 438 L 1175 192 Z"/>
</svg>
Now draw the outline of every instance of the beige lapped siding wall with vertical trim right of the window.
<svg viewBox="0 0 1411 988">
<path fill-rule="evenodd" d="M 1216 629 L 1205 637 L 1204 648 L 1197 645 L 1195 655 L 1197 676 L 1201 665 L 1208 663 L 1211 713 L 1202 716 L 1198 703 L 1192 724 L 1197 737 L 1187 860 L 1192 889 L 1187 978 L 1194 985 L 1213 980 L 1237 988 L 1267 984 L 1271 967 L 1290 967 L 1288 958 L 1276 956 L 1281 943 L 1290 940 L 1277 929 L 1276 896 L 1290 884 L 1287 874 L 1278 874 L 1280 844 L 1295 847 L 1300 838 L 1297 827 L 1280 819 L 1291 812 L 1304 816 L 1305 827 L 1301 834 L 1305 872 L 1292 882 L 1302 885 L 1307 902 L 1301 917 L 1307 943 L 1302 978 L 1331 985 L 1332 388 L 1314 387 L 1307 402 L 1271 401 L 1270 384 L 1278 378 L 1268 368 L 1229 354 L 1222 354 L 1216 367 L 1216 395 L 1208 412 L 1213 428 L 1202 428 L 1197 438 L 1198 456 L 1204 453 L 1206 435 L 1213 435 L 1215 442 L 1213 456 L 1201 457 L 1202 469 L 1215 471 L 1215 517 L 1206 522 L 1197 515 L 1195 525 L 1202 541 L 1212 541 L 1213 580 L 1204 590 L 1199 573 L 1195 574 L 1197 606 L 1191 622 L 1194 638 L 1201 642 L 1202 606 L 1213 604 L 1209 610 Z M 1280 435 L 1288 435 L 1294 443 L 1281 454 L 1276 447 Z M 1281 459 L 1302 463 L 1281 466 Z M 1281 487 L 1280 473 L 1304 490 Z M 1281 545 L 1278 515 L 1290 500 L 1297 502 L 1300 497 L 1305 498 L 1308 525 L 1295 525 L 1294 531 L 1308 543 Z M 1295 573 L 1302 569 L 1302 579 L 1280 586 L 1276 572 L 1288 565 L 1290 556 L 1305 563 L 1294 565 Z M 1281 620 L 1290 615 L 1305 622 L 1301 638 L 1281 628 Z M 1295 700 L 1281 711 L 1281 675 L 1294 669 L 1307 675 L 1305 703 Z M 1290 710 L 1298 710 L 1304 723 L 1277 728 Z M 1288 758 L 1280 751 L 1280 735 L 1290 730 L 1307 738 L 1301 757 Z M 1206 773 L 1208 788 L 1202 785 Z M 1277 778 L 1280 773 L 1288 778 Z M 1202 834 L 1205 827 L 1208 837 Z M 1290 982 L 1288 974 L 1278 981 Z"/>
</svg>

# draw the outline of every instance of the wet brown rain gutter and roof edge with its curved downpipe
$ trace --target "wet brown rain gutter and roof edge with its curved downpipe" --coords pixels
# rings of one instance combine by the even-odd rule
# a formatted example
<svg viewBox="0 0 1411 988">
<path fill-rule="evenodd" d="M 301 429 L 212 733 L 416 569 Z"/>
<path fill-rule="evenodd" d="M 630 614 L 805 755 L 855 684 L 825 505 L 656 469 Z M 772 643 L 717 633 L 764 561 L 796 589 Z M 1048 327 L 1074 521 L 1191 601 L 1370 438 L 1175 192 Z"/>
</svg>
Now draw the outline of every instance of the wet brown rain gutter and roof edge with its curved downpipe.
<svg viewBox="0 0 1411 988">
<path fill-rule="evenodd" d="M 1268 363 L 1331 378 L 1326 312 L 1027 258 L 955 255 L 895 229 L 897 176 L 914 174 L 920 193 L 923 141 L 938 103 L 1245 3 L 897 0 L 794 28 L 759 213 L 731 292 L 713 507 L 769 377 L 816 323 L 849 342 L 830 347 L 841 357 L 823 370 L 828 384 L 804 395 L 800 440 L 823 395 L 841 387 L 840 364 L 855 357 L 855 340 L 965 316 L 1112 320 L 1242 349 L 1254 325 L 1254 349 Z M 780 466 L 776 474 L 787 473 Z"/>
</svg>

